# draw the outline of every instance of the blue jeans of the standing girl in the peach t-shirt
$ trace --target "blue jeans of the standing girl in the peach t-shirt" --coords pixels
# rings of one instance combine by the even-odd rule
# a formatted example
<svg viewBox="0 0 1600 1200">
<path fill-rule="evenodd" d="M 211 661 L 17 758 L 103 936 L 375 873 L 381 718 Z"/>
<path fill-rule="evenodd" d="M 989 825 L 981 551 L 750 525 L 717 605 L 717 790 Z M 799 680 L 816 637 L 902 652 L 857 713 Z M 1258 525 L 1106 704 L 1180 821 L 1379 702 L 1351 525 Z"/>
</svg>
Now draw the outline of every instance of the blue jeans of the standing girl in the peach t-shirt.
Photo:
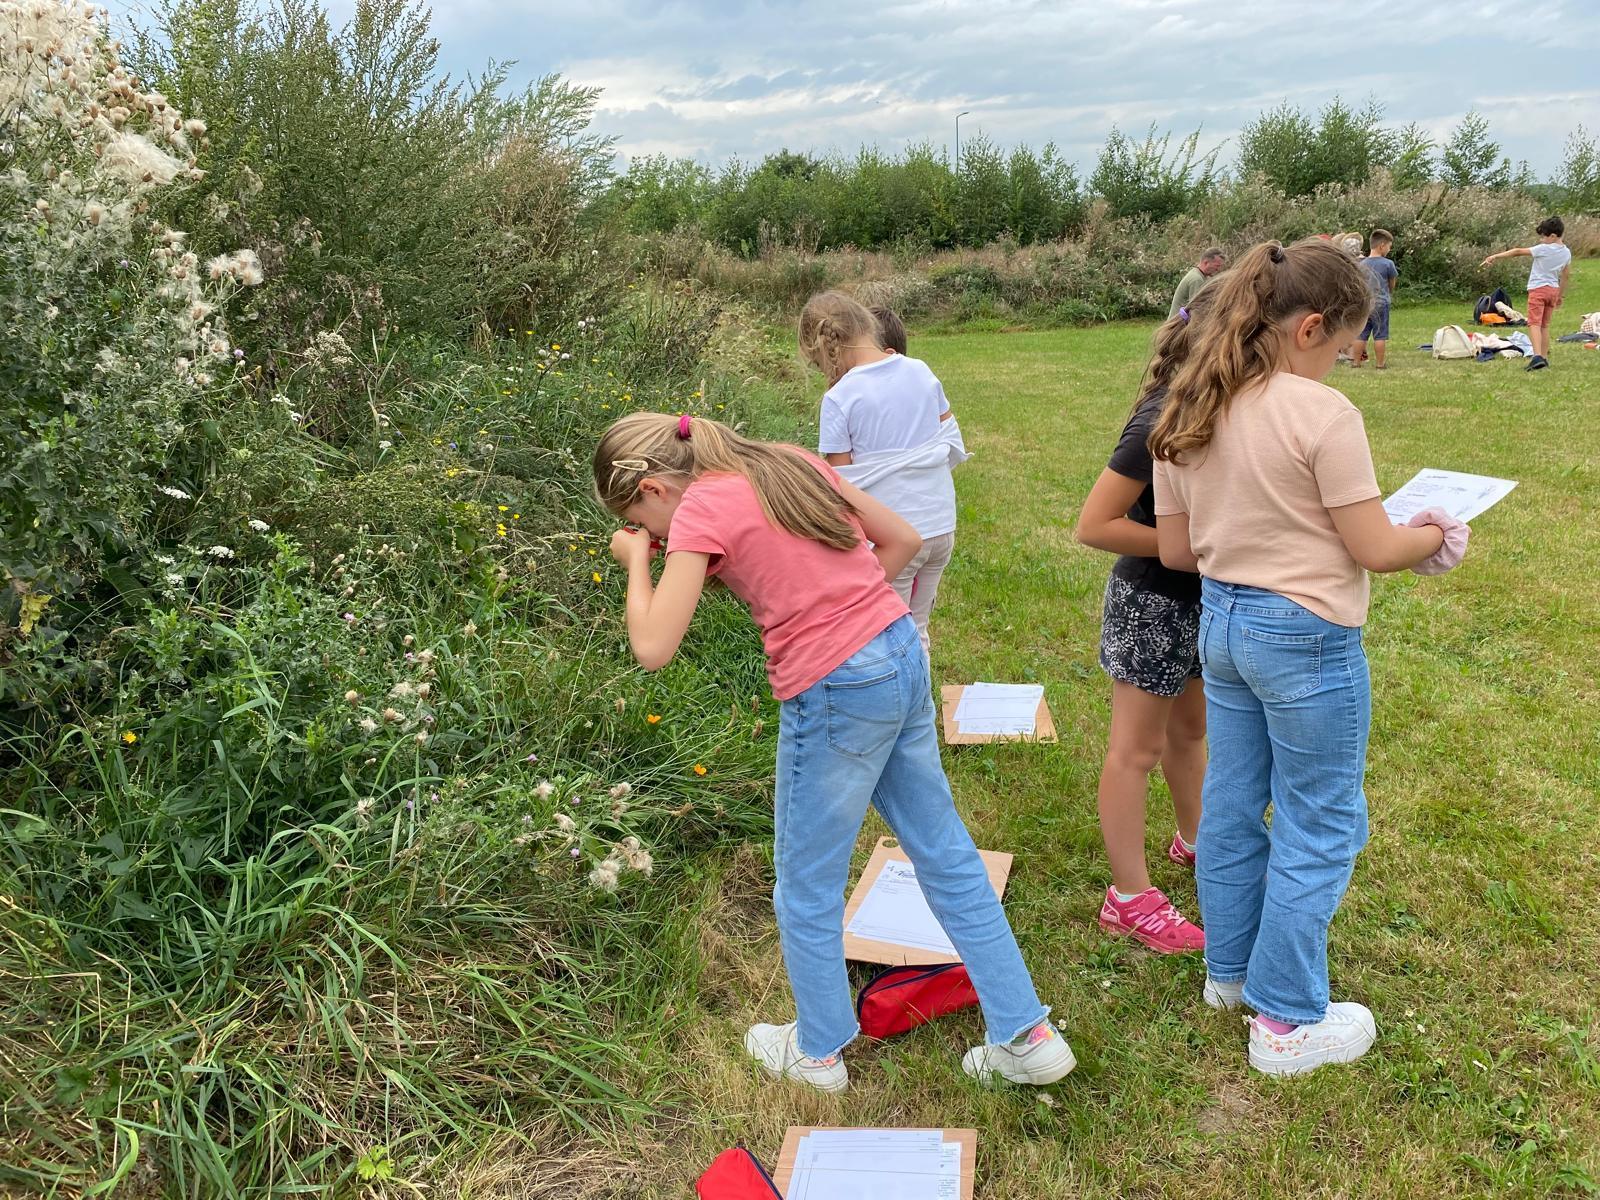
<svg viewBox="0 0 1600 1200">
<path fill-rule="evenodd" d="M 1200 662 L 1206 971 L 1243 979 L 1262 1016 L 1315 1024 L 1328 1011 L 1328 922 L 1366 845 L 1373 693 L 1362 630 L 1277 592 L 1206 579 Z"/>
</svg>

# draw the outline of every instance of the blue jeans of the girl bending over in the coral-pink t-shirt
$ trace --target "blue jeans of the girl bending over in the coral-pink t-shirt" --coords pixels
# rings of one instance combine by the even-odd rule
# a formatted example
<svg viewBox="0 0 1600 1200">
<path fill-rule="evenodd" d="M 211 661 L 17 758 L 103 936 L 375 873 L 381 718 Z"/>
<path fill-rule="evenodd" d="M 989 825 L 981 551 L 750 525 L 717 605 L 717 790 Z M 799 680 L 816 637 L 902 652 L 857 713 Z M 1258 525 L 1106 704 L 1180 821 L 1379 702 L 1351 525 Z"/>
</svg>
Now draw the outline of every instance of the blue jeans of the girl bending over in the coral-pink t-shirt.
<svg viewBox="0 0 1600 1200">
<path fill-rule="evenodd" d="M 861 1032 L 845 974 L 845 885 L 869 803 L 894 830 L 966 963 L 989 1040 L 1010 1042 L 1050 1014 L 955 813 L 939 765 L 928 658 L 909 616 L 784 701 L 776 792 L 773 907 L 802 1053 L 837 1054 Z"/>
</svg>

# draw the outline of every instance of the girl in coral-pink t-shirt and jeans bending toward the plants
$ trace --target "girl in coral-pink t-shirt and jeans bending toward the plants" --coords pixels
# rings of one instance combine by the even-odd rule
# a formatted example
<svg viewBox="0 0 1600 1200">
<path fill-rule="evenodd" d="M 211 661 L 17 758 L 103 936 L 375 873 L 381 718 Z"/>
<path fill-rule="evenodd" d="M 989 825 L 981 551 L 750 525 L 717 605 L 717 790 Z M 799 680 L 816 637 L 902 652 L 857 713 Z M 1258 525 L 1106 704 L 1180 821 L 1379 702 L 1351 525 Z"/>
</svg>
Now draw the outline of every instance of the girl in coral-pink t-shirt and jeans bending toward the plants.
<svg viewBox="0 0 1600 1200">
<path fill-rule="evenodd" d="M 848 1086 L 842 1051 L 859 1026 L 845 883 L 874 805 L 982 1003 L 989 1040 L 966 1053 L 966 1074 L 1053 1083 L 1072 1070 L 939 765 L 928 658 L 888 584 L 917 554 L 917 533 L 821 459 L 715 421 L 626 416 L 600 438 L 594 472 L 600 502 L 648 531 L 611 538 L 638 662 L 672 659 L 715 574 L 750 605 L 782 701 L 773 907 L 797 1019 L 752 1026 L 750 1056 L 781 1078 Z M 666 546 L 659 582 L 651 538 Z"/>
</svg>

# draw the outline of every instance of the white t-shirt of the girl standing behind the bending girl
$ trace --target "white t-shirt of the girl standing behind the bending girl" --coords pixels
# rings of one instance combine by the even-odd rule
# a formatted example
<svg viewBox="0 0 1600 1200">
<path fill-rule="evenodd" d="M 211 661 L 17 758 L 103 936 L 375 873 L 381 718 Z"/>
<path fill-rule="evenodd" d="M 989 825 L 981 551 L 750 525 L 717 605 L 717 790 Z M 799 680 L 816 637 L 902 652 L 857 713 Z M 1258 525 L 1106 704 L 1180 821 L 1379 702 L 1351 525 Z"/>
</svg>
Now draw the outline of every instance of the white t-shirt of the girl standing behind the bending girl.
<svg viewBox="0 0 1600 1200">
<path fill-rule="evenodd" d="M 891 354 L 845 371 L 822 397 L 822 454 L 910 450 L 939 435 L 950 411 L 938 376 L 920 358 Z"/>
</svg>

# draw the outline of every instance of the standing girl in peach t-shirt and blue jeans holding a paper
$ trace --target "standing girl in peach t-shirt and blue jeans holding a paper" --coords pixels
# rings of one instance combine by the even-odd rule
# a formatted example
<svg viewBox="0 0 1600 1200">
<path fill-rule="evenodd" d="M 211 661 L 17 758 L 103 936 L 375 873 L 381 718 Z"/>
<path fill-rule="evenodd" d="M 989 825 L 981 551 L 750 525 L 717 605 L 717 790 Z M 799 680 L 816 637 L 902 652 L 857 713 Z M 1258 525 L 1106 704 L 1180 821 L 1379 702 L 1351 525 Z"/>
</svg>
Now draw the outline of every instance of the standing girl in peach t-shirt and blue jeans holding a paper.
<svg viewBox="0 0 1600 1200">
<path fill-rule="evenodd" d="M 1366 842 L 1366 571 L 1448 571 L 1467 530 L 1438 509 L 1390 523 L 1360 410 L 1318 382 L 1373 306 L 1349 254 L 1261 245 L 1206 291 L 1205 354 L 1149 438 L 1162 562 L 1202 574 L 1205 1000 L 1254 1008 L 1250 1064 L 1291 1075 L 1378 1037 L 1328 998 L 1328 925 Z"/>
</svg>

